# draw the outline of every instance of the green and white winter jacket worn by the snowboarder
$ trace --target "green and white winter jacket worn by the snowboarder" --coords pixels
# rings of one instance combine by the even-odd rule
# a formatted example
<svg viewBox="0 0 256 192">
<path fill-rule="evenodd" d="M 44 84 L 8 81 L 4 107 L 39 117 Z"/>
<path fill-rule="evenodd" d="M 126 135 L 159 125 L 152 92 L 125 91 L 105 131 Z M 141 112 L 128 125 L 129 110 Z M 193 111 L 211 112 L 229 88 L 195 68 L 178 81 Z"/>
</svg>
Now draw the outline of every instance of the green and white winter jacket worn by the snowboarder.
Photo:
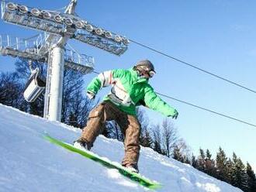
<svg viewBox="0 0 256 192">
<path fill-rule="evenodd" d="M 132 68 L 109 70 L 99 74 L 88 84 L 87 91 L 97 94 L 102 87 L 110 84 L 111 91 L 103 100 L 112 101 L 127 114 L 136 115 L 137 105 L 146 105 L 166 116 L 173 116 L 177 112 L 157 96 L 147 79 L 138 77 L 137 71 Z"/>
</svg>

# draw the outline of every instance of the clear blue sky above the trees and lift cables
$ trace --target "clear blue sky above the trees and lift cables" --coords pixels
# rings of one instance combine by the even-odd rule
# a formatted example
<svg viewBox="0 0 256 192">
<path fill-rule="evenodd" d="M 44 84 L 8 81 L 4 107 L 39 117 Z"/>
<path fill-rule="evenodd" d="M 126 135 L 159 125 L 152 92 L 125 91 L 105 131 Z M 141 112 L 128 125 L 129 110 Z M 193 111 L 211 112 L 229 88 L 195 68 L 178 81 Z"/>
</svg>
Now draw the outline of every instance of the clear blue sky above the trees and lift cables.
<svg viewBox="0 0 256 192">
<path fill-rule="evenodd" d="M 16 1 L 40 9 L 59 9 L 68 1 Z M 137 40 L 197 67 L 209 70 L 256 90 L 256 2 L 212 1 L 79 1 L 83 19 Z M 29 37 L 38 32 L 0 21 L 0 34 Z M 121 57 L 70 40 L 76 50 L 95 57 L 95 70 L 132 67 L 137 60 L 151 60 L 157 74 L 150 81 L 155 91 L 256 124 L 256 94 L 186 67 L 143 47 L 130 43 Z M 0 71 L 13 70 L 16 60 L 0 57 Z M 88 74 L 88 82 L 95 74 Z M 106 90 L 108 91 L 108 90 Z M 102 91 L 102 93 L 106 93 Z M 99 94 L 102 96 L 102 94 Z M 163 98 L 178 109 L 175 126 L 193 153 L 199 147 L 213 156 L 221 146 L 228 156 L 233 151 L 256 169 L 256 128 L 213 115 L 207 111 Z M 151 122 L 164 118 L 147 110 Z"/>
</svg>

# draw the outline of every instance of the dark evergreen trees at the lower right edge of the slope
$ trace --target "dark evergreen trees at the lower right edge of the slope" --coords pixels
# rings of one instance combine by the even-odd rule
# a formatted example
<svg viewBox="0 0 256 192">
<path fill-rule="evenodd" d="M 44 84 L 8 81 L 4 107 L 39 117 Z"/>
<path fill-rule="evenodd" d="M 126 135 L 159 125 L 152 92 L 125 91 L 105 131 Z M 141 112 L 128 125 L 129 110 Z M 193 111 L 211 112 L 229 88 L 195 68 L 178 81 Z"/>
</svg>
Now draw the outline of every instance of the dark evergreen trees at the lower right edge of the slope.
<svg viewBox="0 0 256 192">
<path fill-rule="evenodd" d="M 220 147 L 216 153 L 215 159 L 213 159 L 209 149 L 206 149 L 206 151 L 199 149 L 199 156 L 197 158 L 192 156 L 190 164 L 195 167 L 195 169 L 230 183 L 243 191 L 256 191 L 254 170 L 251 168 L 250 163 L 247 163 L 245 166 L 236 153 L 233 153 L 232 158 L 229 158 Z"/>
</svg>

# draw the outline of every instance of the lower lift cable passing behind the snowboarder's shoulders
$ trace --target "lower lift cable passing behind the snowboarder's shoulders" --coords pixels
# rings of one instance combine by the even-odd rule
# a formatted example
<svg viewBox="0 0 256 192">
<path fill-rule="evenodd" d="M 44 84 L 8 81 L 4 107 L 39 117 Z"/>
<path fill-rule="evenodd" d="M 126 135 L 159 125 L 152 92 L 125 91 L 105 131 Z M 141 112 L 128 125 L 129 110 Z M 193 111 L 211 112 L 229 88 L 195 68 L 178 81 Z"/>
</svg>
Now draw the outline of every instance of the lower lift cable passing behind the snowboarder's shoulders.
<svg viewBox="0 0 256 192">
<path fill-rule="evenodd" d="M 99 74 L 99 72 L 97 72 L 97 71 L 95 71 L 95 70 L 93 70 L 92 73 L 94 73 L 94 74 Z M 159 94 L 159 95 L 161 95 L 161 96 L 163 96 L 163 97 L 165 97 L 165 98 L 171 98 L 170 96 L 168 96 L 168 95 L 166 95 L 166 94 L 161 94 L 161 93 L 158 93 L 158 92 L 156 92 L 156 94 Z M 241 122 L 241 123 L 244 123 L 244 124 L 246 124 L 246 125 L 250 125 L 250 126 L 256 127 L 256 125 L 251 124 L 251 123 L 249 123 L 249 122 L 244 122 L 244 121 L 242 121 L 242 120 L 240 120 L 240 119 L 238 119 L 238 118 L 233 118 L 233 117 L 231 117 L 231 116 L 229 116 L 229 115 L 225 115 L 225 114 L 223 114 L 223 113 L 216 112 L 216 111 L 213 111 L 213 110 L 208 109 L 208 108 L 202 108 L 202 107 L 200 107 L 200 106 L 198 106 L 198 105 L 194 105 L 194 104 L 189 103 L 189 102 L 187 102 L 187 101 L 182 101 L 182 100 L 179 100 L 179 99 L 177 99 L 177 98 L 171 98 L 171 99 L 172 99 L 172 100 L 175 100 L 175 101 L 178 101 L 178 102 L 181 102 L 181 103 L 184 103 L 184 104 L 186 104 L 186 105 L 190 105 L 190 106 L 192 106 L 192 107 L 194 107 L 194 108 L 199 108 L 199 109 L 202 109 L 202 110 L 204 110 L 204 111 L 211 112 L 211 113 L 213 113 L 213 114 L 215 114 L 215 115 L 220 115 L 220 116 L 222 116 L 222 117 L 224 117 L 224 118 L 230 118 L 230 119 L 232 119 L 232 120 L 234 120 L 234 121 Z"/>
</svg>

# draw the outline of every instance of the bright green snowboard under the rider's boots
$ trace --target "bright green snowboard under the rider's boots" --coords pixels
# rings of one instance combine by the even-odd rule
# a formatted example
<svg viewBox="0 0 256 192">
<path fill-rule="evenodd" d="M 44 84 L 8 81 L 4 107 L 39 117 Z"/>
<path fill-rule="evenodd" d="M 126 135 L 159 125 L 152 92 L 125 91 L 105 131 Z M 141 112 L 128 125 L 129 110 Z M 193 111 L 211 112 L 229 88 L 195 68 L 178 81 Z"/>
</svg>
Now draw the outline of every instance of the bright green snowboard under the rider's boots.
<svg viewBox="0 0 256 192">
<path fill-rule="evenodd" d="M 124 177 L 132 180 L 135 183 L 140 184 L 143 187 L 147 187 L 147 188 L 153 189 L 153 190 L 161 188 L 161 183 L 152 181 L 152 180 L 148 179 L 147 177 L 140 175 L 140 173 L 134 173 L 130 170 L 127 170 L 125 167 L 121 166 L 119 163 L 111 162 L 109 159 L 106 159 L 105 157 L 98 156 L 97 154 L 92 153 L 91 151 L 88 151 L 86 149 L 78 149 L 67 142 L 63 142 L 59 139 L 53 138 L 50 135 L 43 135 L 43 138 L 49 142 L 54 143 L 57 146 L 61 146 L 64 149 L 67 149 L 73 153 L 78 153 L 81 156 L 85 156 L 85 158 L 91 159 L 91 160 L 95 161 L 96 163 L 99 163 L 102 166 L 105 166 L 109 169 L 116 169 Z"/>
</svg>

